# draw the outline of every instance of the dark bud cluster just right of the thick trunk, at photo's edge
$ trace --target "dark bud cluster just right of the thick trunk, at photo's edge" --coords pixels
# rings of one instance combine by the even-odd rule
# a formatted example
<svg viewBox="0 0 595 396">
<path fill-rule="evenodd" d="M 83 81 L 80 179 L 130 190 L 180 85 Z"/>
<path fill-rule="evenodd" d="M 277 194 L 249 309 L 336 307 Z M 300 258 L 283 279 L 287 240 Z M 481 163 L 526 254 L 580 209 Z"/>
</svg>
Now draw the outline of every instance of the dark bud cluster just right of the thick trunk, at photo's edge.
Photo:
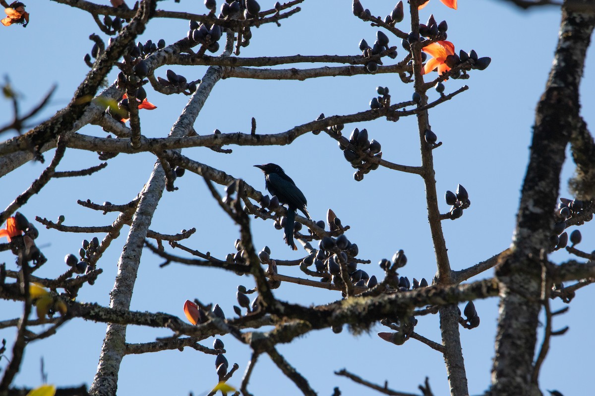
<svg viewBox="0 0 595 396">
<path fill-rule="evenodd" d="M 554 223 L 554 235 L 550 237 L 550 248 L 553 251 L 563 249 L 568 245 L 568 233 L 564 230 L 567 227 L 569 220 L 577 220 L 576 224 L 581 225 L 585 221 L 593 219 L 593 201 L 581 201 L 575 199 L 572 201 L 567 198 L 560 198 L 556 216 L 560 221 Z M 570 234 L 570 242 L 572 245 L 578 245 L 581 242 L 582 236 L 579 230 L 574 230 Z"/>
</svg>

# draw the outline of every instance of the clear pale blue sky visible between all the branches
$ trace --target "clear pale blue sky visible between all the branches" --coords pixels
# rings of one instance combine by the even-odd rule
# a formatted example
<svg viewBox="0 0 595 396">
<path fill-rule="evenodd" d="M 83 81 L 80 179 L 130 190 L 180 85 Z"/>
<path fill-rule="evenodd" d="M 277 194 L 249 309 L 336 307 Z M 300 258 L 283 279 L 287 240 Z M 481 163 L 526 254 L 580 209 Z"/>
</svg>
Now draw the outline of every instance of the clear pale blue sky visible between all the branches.
<svg viewBox="0 0 595 396">
<path fill-rule="evenodd" d="M 273 4 L 272 0 L 261 1 L 263 9 Z M 384 16 L 394 4 L 393 0 L 367 0 L 364 7 L 369 7 L 374 15 Z M 300 7 L 302 11 L 289 20 L 281 21 L 281 27 L 268 24 L 253 29 L 251 44 L 242 50 L 241 56 L 298 53 L 355 55 L 359 52 L 359 40 L 374 41 L 377 28 L 353 17 L 349 1 L 306 1 Z M 205 12 L 202 1 L 159 2 L 159 8 Z M 99 29 L 85 12 L 55 2 L 29 2 L 27 11 L 31 14 L 31 23 L 27 28 L 0 27 L 3 48 L 0 76 L 10 76 L 15 90 L 22 93 L 23 109 L 37 103 L 52 84 L 58 84 L 51 106 L 39 118 L 41 120 L 65 106 L 83 80 L 88 71 L 83 56 L 90 52 L 93 45 L 87 37 L 98 33 Z M 501 252 L 511 242 L 519 190 L 528 159 L 534 109 L 552 64 L 560 13 L 556 8 L 519 11 L 508 2 L 499 0 L 461 0 L 458 11 L 434 0 L 421 11 L 421 20 L 425 21 L 430 13 L 434 13 L 437 21 L 447 20 L 448 39 L 455 44 L 457 52 L 459 49 L 475 49 L 479 56 L 492 58 L 486 71 L 472 71 L 469 80 L 447 81 L 446 93 L 462 84 L 469 85 L 470 89 L 430 112 L 433 131 L 443 142 L 434 151 L 439 196 L 447 189 L 454 191 L 461 183 L 468 190 L 472 202 L 462 218 L 443 223 L 450 262 L 453 269 L 459 270 Z M 408 31 L 407 23 L 406 19 L 398 27 Z M 171 43 L 186 35 L 187 26 L 187 21 L 156 19 L 141 41 L 152 39 L 156 42 L 163 38 Z M 397 60 L 401 59 L 404 51 L 400 40 L 391 37 L 390 45 L 398 47 Z M 20 47 L 18 55 L 8 56 L 7 48 L 17 46 Z M 595 101 L 592 89 L 586 88 L 595 86 L 594 56 L 591 49 L 582 84 L 583 116 L 591 125 L 595 122 L 592 111 Z M 188 80 L 201 78 L 205 71 L 202 66 L 171 68 Z M 160 69 L 157 75 L 164 77 L 166 69 Z M 114 78 L 115 72 L 112 72 L 109 81 L 114 81 Z M 259 133 L 283 132 L 312 121 L 321 112 L 327 116 L 346 115 L 368 109 L 377 85 L 390 88 L 393 103 L 411 98 L 412 85 L 402 84 L 397 75 L 329 77 L 305 82 L 230 78 L 215 86 L 195 123 L 195 129 L 199 134 L 210 134 L 215 128 L 223 132 L 247 132 L 250 119 L 255 117 Z M 150 89 L 148 93 L 149 100 L 158 109 L 151 112 L 142 110 L 143 134 L 164 137 L 179 116 L 187 97 L 164 96 Z M 436 97 L 437 93 L 430 92 L 430 99 Z M 4 124 L 10 117 L 10 103 L 0 100 L 0 123 Z M 403 118 L 397 123 L 382 120 L 356 123 L 347 125 L 346 129 L 350 131 L 355 127 L 367 128 L 370 137 L 381 142 L 384 159 L 408 165 L 420 163 L 417 126 L 413 118 Z M 81 132 L 105 135 L 98 126 L 87 126 Z M 2 138 L 7 138 L 7 135 Z M 243 178 L 261 191 L 264 191 L 262 172 L 252 165 L 278 163 L 308 198 L 308 210 L 313 218 L 325 218 L 327 209 L 332 208 L 343 224 L 352 227 L 346 235 L 352 242 L 358 243 L 361 258 L 371 259 L 372 264 L 362 266 L 370 275 L 381 277 L 382 271 L 377 262 L 381 258 L 390 258 L 398 249 L 404 249 L 408 264 L 401 275 L 418 280 L 422 277 L 431 280 L 433 277 L 436 266 L 425 211 L 424 187 L 418 176 L 378 169 L 366 175 L 362 182 L 355 182 L 352 167 L 343 159 L 336 142 L 325 134 L 305 135 L 290 146 L 231 148 L 233 154 L 214 153 L 205 148 L 184 150 L 184 154 Z M 46 159 L 51 156 L 52 152 L 47 153 Z M 21 211 L 30 220 L 35 216 L 56 220 L 64 214 L 64 224 L 68 225 L 111 224 L 115 218 L 113 214 L 103 216 L 93 213 L 77 205 L 77 199 L 91 199 L 98 203 L 128 202 L 148 180 L 154 161 L 154 156 L 150 154 L 121 154 L 109 161 L 107 169 L 92 178 L 52 180 L 43 194 L 30 199 Z M 99 162 L 94 153 L 70 150 L 59 170 L 83 169 Z M 44 166 L 39 163 L 29 163 L 0 179 L 0 207 L 6 207 L 43 169 Z M 573 164 L 569 161 L 564 170 L 563 197 L 568 197 L 566 179 L 572 170 Z M 186 173 L 176 183 L 179 191 L 165 192 L 151 229 L 176 233 L 196 227 L 198 231 L 187 241 L 187 245 L 199 251 L 210 251 L 221 258 L 233 252 L 233 243 L 238 237 L 237 227 L 206 192 L 203 180 Z M 448 210 L 446 203 L 441 205 L 441 210 Z M 64 272 L 64 255 L 76 253 L 83 239 L 95 236 L 62 235 L 42 226 L 39 228 L 37 243 L 49 260 L 38 275 L 46 277 L 56 277 Z M 593 250 L 593 226 L 587 224 L 581 227 L 581 231 L 583 243 L 578 247 Z M 101 259 L 99 267 L 104 273 L 95 286 L 84 287 L 79 294 L 80 300 L 108 304 L 126 232 L 112 243 Z M 256 246 L 270 246 L 274 258 L 298 258 L 302 255 L 302 252 L 292 252 L 284 245 L 281 232 L 274 230 L 270 221 L 253 221 L 253 234 Z M 570 257 L 566 252 L 558 252 L 552 258 L 564 261 Z M 0 255 L 0 261 L 6 261 L 8 268 L 15 267 L 12 256 L 7 252 Z M 239 278 L 223 271 L 181 265 L 159 268 L 160 262 L 161 259 L 148 251 L 143 252 L 131 309 L 162 311 L 183 317 L 184 300 L 197 297 L 205 303 L 219 303 L 226 315 L 233 316 L 237 285 L 250 287 L 253 284 L 248 277 Z M 300 276 L 297 268 L 284 268 L 283 273 Z M 482 276 L 491 276 L 491 271 Z M 337 292 L 293 284 L 283 284 L 275 290 L 275 295 L 305 305 L 340 298 Z M 541 373 L 542 390 L 559 389 L 566 396 L 584 394 L 585 378 L 590 378 L 591 368 L 595 365 L 595 359 L 589 353 L 595 347 L 590 321 L 594 296 L 592 289 L 581 290 L 569 313 L 555 319 L 555 328 L 565 325 L 571 328 L 564 337 L 552 340 L 550 354 Z M 480 327 L 471 331 L 461 328 L 471 394 L 483 392 L 490 384 L 497 299 L 478 301 L 475 305 L 481 318 Z M 559 302 L 553 305 L 561 306 Z M 2 319 L 17 317 L 20 309 L 20 303 L 0 301 Z M 419 318 L 415 330 L 440 342 L 436 316 Z M 291 345 L 279 346 L 278 350 L 321 395 L 331 394 L 336 386 L 340 387 L 343 395 L 359 395 L 365 391 L 360 385 L 333 374 L 342 368 L 378 384 L 388 380 L 389 387 L 409 392 L 416 392 L 418 384 L 429 376 L 435 394 L 447 394 L 446 370 L 439 353 L 415 340 L 403 346 L 394 346 L 378 338 L 378 331 L 385 330 L 377 325 L 369 334 L 358 337 L 349 334 L 346 329 L 339 335 L 330 330 L 317 331 Z M 167 330 L 129 327 L 127 337 L 129 342 L 140 343 L 168 334 Z M 80 319 L 71 321 L 55 337 L 27 347 L 15 384 L 39 385 L 39 361 L 43 356 L 50 383 L 59 386 L 89 385 L 95 375 L 104 335 L 105 324 Z M 14 329 L 0 330 L 0 338 L 7 338 L 11 343 Z M 223 337 L 223 341 L 230 364 L 237 362 L 240 365 L 230 384 L 239 385 L 250 351 L 230 336 Z M 204 340 L 203 344 L 210 347 L 212 339 Z M 571 351 L 574 352 L 572 359 L 568 359 Z M 217 382 L 214 360 L 214 356 L 205 356 L 190 349 L 126 356 L 118 381 L 119 394 L 187 395 L 190 391 L 195 395 L 201 394 Z M 0 362 L 0 365 L 6 365 L 6 360 Z M 250 389 L 259 395 L 299 393 L 268 357 L 259 360 L 251 383 Z M 368 394 L 368 391 L 365 392 Z"/>
</svg>

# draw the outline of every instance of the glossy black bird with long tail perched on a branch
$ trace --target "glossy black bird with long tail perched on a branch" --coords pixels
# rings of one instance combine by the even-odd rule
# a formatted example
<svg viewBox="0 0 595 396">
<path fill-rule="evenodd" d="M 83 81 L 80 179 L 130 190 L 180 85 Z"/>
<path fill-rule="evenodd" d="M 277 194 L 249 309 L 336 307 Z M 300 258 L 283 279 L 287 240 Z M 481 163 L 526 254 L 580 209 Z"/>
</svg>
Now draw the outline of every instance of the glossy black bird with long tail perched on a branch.
<svg viewBox="0 0 595 396">
<path fill-rule="evenodd" d="M 293 250 L 297 250 L 293 243 L 293 225 L 295 223 L 296 210 L 299 209 L 309 219 L 310 214 L 306 210 L 306 197 L 297 188 L 292 178 L 287 176 L 283 169 L 277 164 L 255 165 L 264 172 L 265 186 L 268 192 L 277 195 L 281 204 L 287 204 L 287 220 L 285 223 L 285 242 Z"/>
</svg>

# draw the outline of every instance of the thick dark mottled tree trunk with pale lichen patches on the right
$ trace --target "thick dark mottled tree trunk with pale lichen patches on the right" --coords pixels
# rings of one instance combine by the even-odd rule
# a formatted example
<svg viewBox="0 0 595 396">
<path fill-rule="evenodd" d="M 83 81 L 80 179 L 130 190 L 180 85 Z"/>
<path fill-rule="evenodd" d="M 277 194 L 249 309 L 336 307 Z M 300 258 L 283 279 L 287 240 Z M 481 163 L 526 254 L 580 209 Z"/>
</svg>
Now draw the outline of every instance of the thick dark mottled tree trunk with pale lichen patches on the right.
<svg viewBox="0 0 595 396">
<path fill-rule="evenodd" d="M 573 2 L 587 5 L 583 0 Z M 595 24 L 593 13 L 565 1 L 558 47 L 537 106 L 530 163 L 525 175 L 511 252 L 500 259 L 500 315 L 492 368 L 493 395 L 540 394 L 531 386 L 542 274 L 552 235 L 565 148 L 578 127 L 578 88 Z M 583 11 L 585 8 L 582 8 Z"/>
</svg>

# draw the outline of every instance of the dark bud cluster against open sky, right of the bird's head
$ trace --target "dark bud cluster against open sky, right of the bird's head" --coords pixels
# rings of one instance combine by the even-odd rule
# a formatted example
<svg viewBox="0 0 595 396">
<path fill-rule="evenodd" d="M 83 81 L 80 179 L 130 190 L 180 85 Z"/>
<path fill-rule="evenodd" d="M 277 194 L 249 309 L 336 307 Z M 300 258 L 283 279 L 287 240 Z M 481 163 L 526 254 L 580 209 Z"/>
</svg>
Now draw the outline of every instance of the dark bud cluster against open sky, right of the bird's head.
<svg viewBox="0 0 595 396">
<path fill-rule="evenodd" d="M 364 175 L 370 170 L 378 169 L 378 163 L 370 160 L 382 158 L 382 147 L 378 141 L 368 140 L 367 129 L 353 129 L 349 140 L 344 136 L 339 137 L 339 148 L 343 150 L 343 156 L 351 166 L 358 169 L 353 173 L 353 179 L 356 181 L 363 180 Z"/>
</svg>

